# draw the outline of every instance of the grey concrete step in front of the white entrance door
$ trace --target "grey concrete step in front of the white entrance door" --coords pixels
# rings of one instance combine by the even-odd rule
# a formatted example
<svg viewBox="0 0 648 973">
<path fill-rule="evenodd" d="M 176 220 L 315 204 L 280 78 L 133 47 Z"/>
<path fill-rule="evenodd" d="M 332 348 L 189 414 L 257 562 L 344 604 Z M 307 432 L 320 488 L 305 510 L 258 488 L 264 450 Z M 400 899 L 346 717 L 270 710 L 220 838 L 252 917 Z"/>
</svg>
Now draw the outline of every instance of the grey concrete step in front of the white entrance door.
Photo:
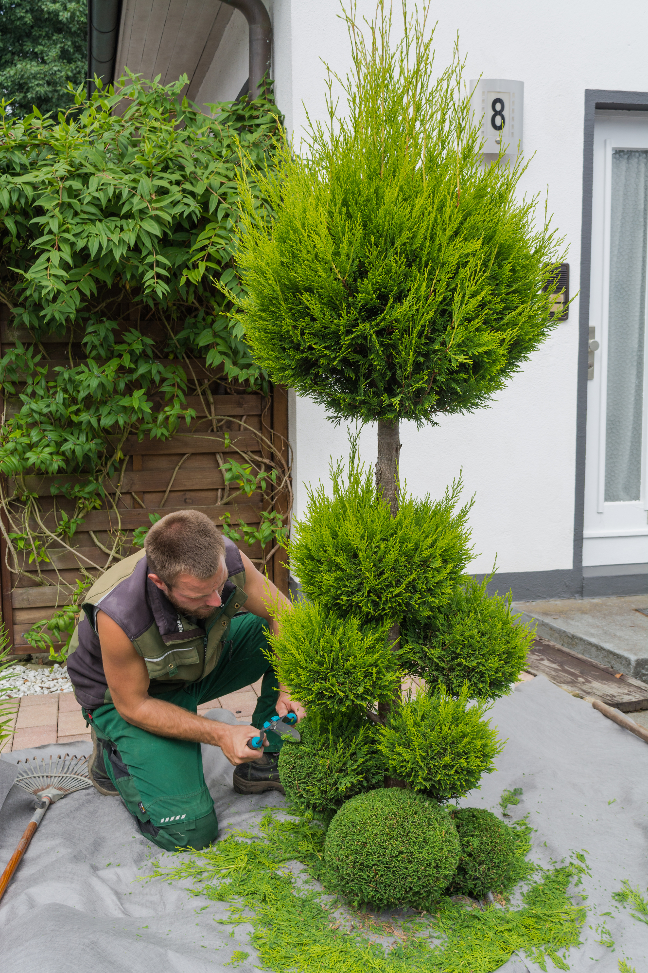
<svg viewBox="0 0 648 973">
<path fill-rule="evenodd" d="M 540 638 L 648 682 L 647 595 L 514 601 Z"/>
</svg>

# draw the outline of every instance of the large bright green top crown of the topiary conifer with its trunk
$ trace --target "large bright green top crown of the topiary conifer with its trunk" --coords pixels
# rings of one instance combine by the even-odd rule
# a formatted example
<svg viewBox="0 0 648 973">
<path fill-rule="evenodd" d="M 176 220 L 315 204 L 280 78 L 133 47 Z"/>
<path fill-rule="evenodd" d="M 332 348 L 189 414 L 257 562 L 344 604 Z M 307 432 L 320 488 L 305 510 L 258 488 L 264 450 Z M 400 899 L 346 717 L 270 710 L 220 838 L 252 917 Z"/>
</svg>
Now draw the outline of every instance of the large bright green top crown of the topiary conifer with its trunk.
<svg viewBox="0 0 648 973">
<path fill-rule="evenodd" d="M 516 195 L 522 161 L 484 166 L 456 48 L 435 77 L 429 6 L 411 17 L 404 0 L 396 44 L 384 0 L 371 23 L 355 2 L 343 12 L 351 69 L 328 69 L 328 117 L 308 120 L 304 155 L 280 147 L 270 217 L 248 197 L 237 254 L 256 360 L 334 422 L 378 423 L 392 516 L 400 423 L 491 401 L 553 327 L 559 260 L 537 200 Z"/>
</svg>

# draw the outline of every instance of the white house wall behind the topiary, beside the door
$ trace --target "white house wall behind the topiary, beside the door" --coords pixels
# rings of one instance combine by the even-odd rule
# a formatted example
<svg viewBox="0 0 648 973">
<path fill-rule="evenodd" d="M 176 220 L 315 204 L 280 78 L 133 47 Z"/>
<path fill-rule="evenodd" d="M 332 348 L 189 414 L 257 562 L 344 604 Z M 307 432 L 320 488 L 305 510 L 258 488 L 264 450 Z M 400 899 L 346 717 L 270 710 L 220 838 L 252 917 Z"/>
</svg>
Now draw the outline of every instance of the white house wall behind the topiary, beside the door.
<svg viewBox="0 0 648 973">
<path fill-rule="evenodd" d="M 270 4 L 269 4 L 270 7 Z M 412 5 L 414 9 L 414 5 Z M 394 3 L 398 17 L 400 3 Z M 371 18 L 375 3 L 358 0 Z M 339 73 L 349 67 L 348 44 L 336 3 L 275 0 L 273 75 L 277 103 L 297 145 L 311 118 L 325 112 L 322 60 Z M 648 8 L 639 0 L 615 5 L 593 0 L 519 0 L 435 5 L 437 63 L 450 62 L 457 30 L 467 55 L 466 79 L 480 75 L 524 83 L 524 155 L 531 159 L 521 193 L 544 196 L 569 252 L 570 290 L 579 289 L 586 89 L 648 90 L 645 38 Z M 540 208 L 539 218 L 542 218 Z M 593 282 L 594 285 L 594 282 Z M 476 493 L 472 514 L 476 558 L 486 572 L 554 571 L 572 567 L 576 461 L 578 298 L 569 319 L 527 362 L 490 409 L 452 416 L 439 427 L 402 432 L 401 470 L 417 494 L 443 493 L 463 469 L 465 495 Z M 296 455 L 296 516 L 304 512 L 305 483 L 328 478 L 328 456 L 346 450 L 343 429 L 323 410 L 296 398 L 292 409 Z M 366 430 L 363 455 L 376 458 L 375 431 Z"/>
</svg>

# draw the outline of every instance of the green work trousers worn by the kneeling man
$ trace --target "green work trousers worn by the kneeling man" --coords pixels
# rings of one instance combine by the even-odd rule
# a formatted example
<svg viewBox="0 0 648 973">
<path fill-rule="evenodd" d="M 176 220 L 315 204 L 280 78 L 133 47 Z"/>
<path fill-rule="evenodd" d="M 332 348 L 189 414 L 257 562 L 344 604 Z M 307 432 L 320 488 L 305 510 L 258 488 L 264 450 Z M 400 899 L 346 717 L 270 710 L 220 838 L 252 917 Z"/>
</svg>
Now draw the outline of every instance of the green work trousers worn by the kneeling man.
<svg viewBox="0 0 648 973">
<path fill-rule="evenodd" d="M 184 689 L 158 693 L 155 699 L 182 706 L 192 713 L 208 703 L 249 686 L 263 676 L 261 696 L 252 724 L 261 727 L 275 712 L 277 678 L 262 649 L 268 645 L 268 624 L 256 615 L 235 615 L 229 638 L 216 667 L 204 679 Z M 157 737 L 126 723 L 112 703 L 84 716 L 103 743 L 106 773 L 120 792 L 139 830 L 154 844 L 207 847 L 216 841 L 218 820 L 202 775 L 200 744 Z M 267 752 L 276 752 L 281 739 L 268 734 Z"/>
</svg>

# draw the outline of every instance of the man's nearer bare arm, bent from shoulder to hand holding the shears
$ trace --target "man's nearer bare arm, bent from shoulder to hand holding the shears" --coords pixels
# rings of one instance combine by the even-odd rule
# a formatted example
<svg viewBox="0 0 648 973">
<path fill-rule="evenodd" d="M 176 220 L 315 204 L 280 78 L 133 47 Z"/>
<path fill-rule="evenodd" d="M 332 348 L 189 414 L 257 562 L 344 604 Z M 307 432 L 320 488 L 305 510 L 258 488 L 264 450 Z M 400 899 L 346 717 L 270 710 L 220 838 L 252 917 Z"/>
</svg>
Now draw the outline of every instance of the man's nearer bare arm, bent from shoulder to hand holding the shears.
<svg viewBox="0 0 648 973">
<path fill-rule="evenodd" d="M 149 673 L 135 647 L 104 612 L 97 613 L 97 630 L 101 644 L 103 669 L 110 695 L 126 723 L 147 730 L 157 737 L 188 739 L 196 743 L 220 746 L 231 764 L 256 760 L 263 751 L 247 746 L 258 736 L 254 727 L 229 726 L 190 713 L 181 706 L 149 696 Z"/>
</svg>

